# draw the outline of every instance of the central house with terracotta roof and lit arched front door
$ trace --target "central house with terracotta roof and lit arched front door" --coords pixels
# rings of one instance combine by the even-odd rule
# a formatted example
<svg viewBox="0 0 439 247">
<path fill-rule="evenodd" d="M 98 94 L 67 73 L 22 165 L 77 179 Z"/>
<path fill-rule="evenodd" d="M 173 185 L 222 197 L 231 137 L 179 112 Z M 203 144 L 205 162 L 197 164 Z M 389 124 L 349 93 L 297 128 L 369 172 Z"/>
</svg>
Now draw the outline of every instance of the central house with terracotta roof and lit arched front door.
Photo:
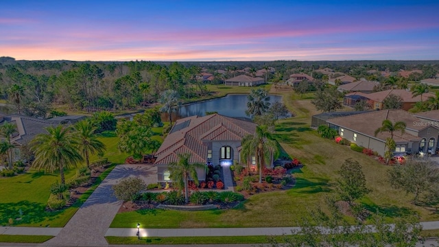
<svg viewBox="0 0 439 247">
<path fill-rule="evenodd" d="M 167 165 L 178 162 L 177 154 L 191 154 L 190 163 L 228 166 L 239 162 L 241 140 L 247 134 L 254 134 L 256 126 L 250 121 L 218 114 L 178 119 L 156 152 L 158 182 L 169 181 Z M 205 178 L 205 171 L 198 170 L 198 179 Z"/>
</svg>

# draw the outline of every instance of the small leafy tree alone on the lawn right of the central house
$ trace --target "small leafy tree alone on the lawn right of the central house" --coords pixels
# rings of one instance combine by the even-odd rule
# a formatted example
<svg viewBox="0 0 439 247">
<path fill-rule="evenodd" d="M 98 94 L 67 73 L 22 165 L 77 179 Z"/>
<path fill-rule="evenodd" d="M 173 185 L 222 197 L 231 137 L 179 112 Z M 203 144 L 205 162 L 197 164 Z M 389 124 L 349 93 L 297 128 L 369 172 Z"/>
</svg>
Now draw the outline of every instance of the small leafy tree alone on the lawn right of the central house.
<svg viewBox="0 0 439 247">
<path fill-rule="evenodd" d="M 370 192 L 366 187 L 366 177 L 364 176 L 361 165 L 351 158 L 344 161 L 340 168 L 340 180 L 337 181 L 339 194 L 342 200 L 353 205 L 358 200 Z"/>
</svg>

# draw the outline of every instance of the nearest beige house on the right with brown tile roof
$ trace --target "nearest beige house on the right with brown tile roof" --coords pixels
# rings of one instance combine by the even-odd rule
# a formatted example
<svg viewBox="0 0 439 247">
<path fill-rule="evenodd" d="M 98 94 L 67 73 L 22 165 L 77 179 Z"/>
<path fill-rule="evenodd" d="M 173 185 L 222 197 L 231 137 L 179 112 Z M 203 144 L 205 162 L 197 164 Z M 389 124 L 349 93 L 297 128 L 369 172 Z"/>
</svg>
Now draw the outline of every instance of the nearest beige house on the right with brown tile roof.
<svg viewBox="0 0 439 247">
<path fill-rule="evenodd" d="M 406 153 L 427 153 L 429 150 L 437 149 L 439 126 L 427 124 L 425 119 L 416 117 L 405 110 L 377 110 L 348 117 L 337 117 L 329 119 L 327 122 L 337 126 L 341 137 L 384 156 L 385 140 L 390 137 L 390 133 L 381 132 L 375 137 L 375 130 L 382 126 L 385 119 L 392 121 L 393 124 L 396 121 L 403 121 L 407 125 L 403 134 L 401 131 L 393 133 L 393 139 L 396 143 L 394 154 L 396 156 Z"/>
</svg>

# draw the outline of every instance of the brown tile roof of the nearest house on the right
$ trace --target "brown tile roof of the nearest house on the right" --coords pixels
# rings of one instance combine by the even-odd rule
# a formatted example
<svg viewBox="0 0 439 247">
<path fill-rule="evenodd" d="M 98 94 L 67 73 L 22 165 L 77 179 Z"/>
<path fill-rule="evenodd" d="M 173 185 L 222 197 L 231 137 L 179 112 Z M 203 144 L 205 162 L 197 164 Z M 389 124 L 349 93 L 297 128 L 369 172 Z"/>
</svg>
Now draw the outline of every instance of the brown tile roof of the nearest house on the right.
<svg viewBox="0 0 439 247">
<path fill-rule="evenodd" d="M 385 139 L 390 137 L 388 132 L 381 132 L 377 134 L 377 137 L 375 137 L 375 130 L 381 127 L 383 120 L 385 119 L 389 119 L 392 121 L 392 123 L 395 123 L 396 121 L 403 121 L 407 125 L 407 129 L 414 131 L 419 131 L 426 128 L 425 126 L 414 124 L 421 120 L 405 110 L 375 110 L 370 113 L 362 113 L 347 117 L 336 117 L 327 120 L 327 122 L 340 126 L 341 128 L 353 130 L 361 134 L 366 134 L 369 137 L 385 141 Z M 415 137 L 407 132 L 401 135 L 400 131 L 396 131 L 393 134 L 394 141 L 396 141 L 396 143 L 410 140 L 420 140 L 419 137 Z"/>
</svg>

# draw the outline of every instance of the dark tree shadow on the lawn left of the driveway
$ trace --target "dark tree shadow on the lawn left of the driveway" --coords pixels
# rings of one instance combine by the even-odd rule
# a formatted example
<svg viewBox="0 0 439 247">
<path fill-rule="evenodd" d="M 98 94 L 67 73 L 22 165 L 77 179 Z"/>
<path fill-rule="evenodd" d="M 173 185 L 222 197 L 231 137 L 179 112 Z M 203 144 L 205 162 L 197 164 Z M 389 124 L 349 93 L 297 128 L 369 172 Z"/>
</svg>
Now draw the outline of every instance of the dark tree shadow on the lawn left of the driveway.
<svg viewBox="0 0 439 247">
<path fill-rule="evenodd" d="M 27 200 L 1 203 L 0 225 L 35 224 L 45 220 L 54 220 L 62 212 L 62 210 L 46 211 L 45 204 Z"/>
</svg>

